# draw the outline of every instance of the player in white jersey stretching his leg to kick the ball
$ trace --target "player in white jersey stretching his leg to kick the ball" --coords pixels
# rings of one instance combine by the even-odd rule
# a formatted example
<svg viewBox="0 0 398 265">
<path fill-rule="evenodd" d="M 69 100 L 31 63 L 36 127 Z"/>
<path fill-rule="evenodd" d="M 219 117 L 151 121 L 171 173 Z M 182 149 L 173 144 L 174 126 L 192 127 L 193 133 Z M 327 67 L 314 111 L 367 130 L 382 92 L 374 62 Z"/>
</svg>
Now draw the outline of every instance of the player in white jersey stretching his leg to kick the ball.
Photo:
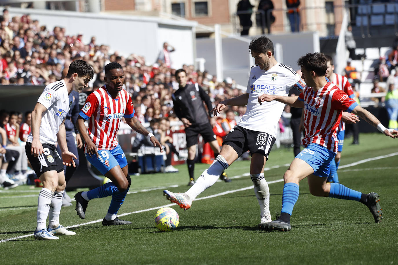
<svg viewBox="0 0 398 265">
<path fill-rule="evenodd" d="M 213 108 L 214 115 L 230 106 L 246 106 L 242 120 L 230 130 L 222 143 L 220 154 L 213 164 L 206 169 L 185 193 L 163 191 L 166 198 L 177 203 L 181 208 L 189 209 L 192 201 L 205 189 L 211 187 L 225 170 L 240 155 L 250 151 L 250 178 L 260 205 L 260 222 L 270 222 L 269 189 L 264 178 L 264 165 L 275 142 L 277 124 L 285 104 L 269 102 L 258 104 L 258 97 L 263 93 L 270 95 L 289 94 L 291 87 L 300 91 L 305 84 L 291 67 L 280 64 L 274 57 L 273 43 L 267 37 L 252 40 L 249 50 L 255 65 L 250 70 L 250 76 L 245 94 L 221 101 Z"/>
</svg>

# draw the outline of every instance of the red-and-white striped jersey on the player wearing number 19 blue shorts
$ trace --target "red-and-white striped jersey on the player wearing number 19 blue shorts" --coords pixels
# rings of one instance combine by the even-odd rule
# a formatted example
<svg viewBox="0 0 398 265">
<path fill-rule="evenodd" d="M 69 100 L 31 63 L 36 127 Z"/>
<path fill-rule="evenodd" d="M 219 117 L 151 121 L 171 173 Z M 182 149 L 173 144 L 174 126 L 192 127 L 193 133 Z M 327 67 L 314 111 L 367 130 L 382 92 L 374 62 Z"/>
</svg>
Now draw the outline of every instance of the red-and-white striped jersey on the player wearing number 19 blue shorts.
<svg viewBox="0 0 398 265">
<path fill-rule="evenodd" d="M 86 99 L 80 116 L 88 120 L 88 135 L 97 149 L 112 150 L 118 145 L 117 131 L 123 117 L 133 118 L 134 107 L 130 94 L 122 89 L 117 99 L 112 99 L 104 85 Z M 87 152 L 87 145 L 84 145 Z"/>
</svg>

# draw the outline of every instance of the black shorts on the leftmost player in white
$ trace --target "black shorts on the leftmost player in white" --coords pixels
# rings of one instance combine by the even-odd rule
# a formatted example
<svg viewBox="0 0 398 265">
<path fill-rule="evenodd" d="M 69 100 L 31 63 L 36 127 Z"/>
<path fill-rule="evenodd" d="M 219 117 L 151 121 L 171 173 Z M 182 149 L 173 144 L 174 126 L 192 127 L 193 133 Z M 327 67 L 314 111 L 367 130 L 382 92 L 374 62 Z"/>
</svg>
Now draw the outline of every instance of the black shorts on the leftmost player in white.
<svg viewBox="0 0 398 265">
<path fill-rule="evenodd" d="M 57 170 L 58 173 L 64 171 L 64 164 L 62 164 L 62 159 L 55 146 L 47 143 L 43 143 L 42 145 L 44 150 L 38 157 L 34 157 L 30 153 L 32 143 L 26 142 L 25 145 L 27 159 L 29 159 L 36 175 L 40 177 L 44 172 L 51 170 Z"/>
</svg>

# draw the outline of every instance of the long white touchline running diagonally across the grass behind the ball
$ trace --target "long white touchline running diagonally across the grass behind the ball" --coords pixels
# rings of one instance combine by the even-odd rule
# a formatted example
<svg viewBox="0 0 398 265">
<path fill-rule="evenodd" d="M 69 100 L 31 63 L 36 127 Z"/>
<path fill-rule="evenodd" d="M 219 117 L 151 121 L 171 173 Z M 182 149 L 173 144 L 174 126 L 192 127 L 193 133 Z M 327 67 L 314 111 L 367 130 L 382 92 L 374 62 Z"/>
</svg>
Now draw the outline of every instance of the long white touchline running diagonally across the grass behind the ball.
<svg viewBox="0 0 398 265">
<path fill-rule="evenodd" d="M 340 166 L 340 168 L 343 168 L 343 167 L 345 168 L 345 167 L 349 167 L 349 166 L 356 166 L 358 164 L 366 163 L 366 162 L 369 162 L 369 161 L 372 161 L 372 160 L 378 160 L 378 159 L 383 159 L 383 158 L 386 158 L 386 157 L 392 157 L 394 155 L 398 155 L 398 152 L 397 153 L 391 153 L 389 155 L 383 155 L 383 156 L 373 157 L 373 158 L 369 158 L 369 159 L 363 159 L 363 160 L 360 160 L 360 161 L 357 161 L 357 162 L 354 162 L 354 163 L 351 163 L 351 164 L 348 164 L 348 165 Z M 244 175 L 246 175 L 246 174 L 244 174 Z M 268 184 L 273 184 L 273 183 L 282 182 L 282 181 L 283 181 L 283 178 L 281 178 L 279 180 L 269 181 L 267 183 Z M 203 200 L 203 199 L 209 199 L 209 198 L 214 198 L 214 197 L 218 197 L 218 196 L 222 196 L 222 195 L 226 195 L 226 194 L 234 193 L 234 192 L 238 192 L 238 191 L 250 190 L 252 188 L 253 188 L 253 186 L 249 186 L 249 187 L 241 188 L 241 189 L 238 189 L 238 190 L 224 191 L 224 192 L 217 193 L 217 194 L 214 194 L 214 195 L 209 195 L 209 196 L 205 196 L 205 197 L 201 197 L 201 198 L 195 199 L 195 201 L 199 201 L 199 200 Z M 160 208 L 163 208 L 163 207 L 170 207 L 170 206 L 175 206 L 175 205 L 176 205 L 175 203 L 170 203 L 170 204 L 166 204 L 166 205 L 162 205 L 162 206 L 158 206 L 158 207 L 152 207 L 152 208 L 139 210 L 139 211 L 134 211 L 134 212 L 130 212 L 130 213 L 122 213 L 119 216 L 122 217 L 122 216 L 125 216 L 125 215 L 131 215 L 133 213 L 143 213 L 143 212 L 153 211 L 153 210 L 160 209 Z M 74 228 L 74 227 L 84 226 L 86 224 L 95 224 L 95 223 L 101 222 L 101 221 L 102 221 L 102 219 L 98 219 L 98 220 L 95 220 L 95 221 L 86 222 L 84 224 L 75 224 L 75 225 L 72 225 L 72 226 L 67 226 L 66 228 Z M 20 238 L 26 238 L 26 237 L 29 237 L 29 236 L 33 236 L 33 233 L 32 234 L 23 235 L 23 236 L 16 236 L 16 237 L 13 237 L 13 238 L 3 239 L 3 240 L 0 240 L 0 243 L 6 242 L 6 241 L 10 241 L 10 240 L 17 240 L 17 239 L 20 239 Z"/>
</svg>

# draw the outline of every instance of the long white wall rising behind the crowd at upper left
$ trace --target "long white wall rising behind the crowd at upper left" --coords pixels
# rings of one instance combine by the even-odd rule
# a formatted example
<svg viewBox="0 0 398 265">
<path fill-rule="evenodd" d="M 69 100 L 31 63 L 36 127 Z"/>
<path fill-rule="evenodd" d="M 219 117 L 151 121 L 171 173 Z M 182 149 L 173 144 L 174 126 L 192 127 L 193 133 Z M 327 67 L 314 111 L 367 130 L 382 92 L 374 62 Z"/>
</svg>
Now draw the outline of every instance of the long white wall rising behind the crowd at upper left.
<svg viewBox="0 0 398 265">
<path fill-rule="evenodd" d="M 147 64 L 156 61 L 164 42 L 176 48 L 171 53 L 172 67 L 194 63 L 195 21 L 174 21 L 159 17 L 81 13 L 58 10 L 9 8 L 11 16 L 30 14 L 49 31 L 55 26 L 64 27 L 66 35 L 83 33 L 83 43 L 92 36 L 97 44 L 109 45 L 111 50 L 128 56 L 131 53 L 145 56 Z"/>
</svg>

